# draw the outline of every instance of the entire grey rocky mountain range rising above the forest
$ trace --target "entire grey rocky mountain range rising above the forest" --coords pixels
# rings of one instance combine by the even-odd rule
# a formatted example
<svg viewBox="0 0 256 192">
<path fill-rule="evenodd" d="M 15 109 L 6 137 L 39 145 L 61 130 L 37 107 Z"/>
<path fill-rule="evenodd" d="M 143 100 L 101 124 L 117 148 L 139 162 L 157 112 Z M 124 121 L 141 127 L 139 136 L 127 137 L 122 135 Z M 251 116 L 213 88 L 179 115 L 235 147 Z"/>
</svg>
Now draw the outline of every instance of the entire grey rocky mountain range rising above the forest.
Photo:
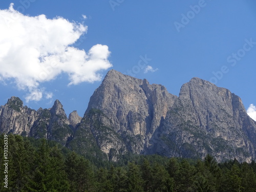
<svg viewBox="0 0 256 192">
<path fill-rule="evenodd" d="M 192 78 L 179 97 L 160 84 L 150 84 L 111 70 L 91 96 L 83 117 L 67 118 L 56 100 L 37 111 L 12 97 L 0 107 L 0 132 L 60 142 L 84 156 L 117 161 L 122 155 L 220 161 L 256 158 L 256 122 L 241 99 L 208 81 Z"/>
</svg>

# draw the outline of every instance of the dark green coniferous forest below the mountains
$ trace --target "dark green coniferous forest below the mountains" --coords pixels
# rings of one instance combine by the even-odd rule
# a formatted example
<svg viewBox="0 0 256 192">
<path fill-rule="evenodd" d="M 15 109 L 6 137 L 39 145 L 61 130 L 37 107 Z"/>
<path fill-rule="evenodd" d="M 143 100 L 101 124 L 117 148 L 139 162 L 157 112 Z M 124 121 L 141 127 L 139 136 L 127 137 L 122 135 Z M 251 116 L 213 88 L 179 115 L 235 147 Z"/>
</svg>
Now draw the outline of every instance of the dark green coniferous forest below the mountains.
<svg viewBox="0 0 256 192">
<path fill-rule="evenodd" d="M 236 159 L 217 163 L 126 155 L 114 163 L 84 158 L 45 139 L 8 135 L 8 188 L 4 135 L 0 137 L 1 191 L 256 191 L 256 163 Z"/>
</svg>

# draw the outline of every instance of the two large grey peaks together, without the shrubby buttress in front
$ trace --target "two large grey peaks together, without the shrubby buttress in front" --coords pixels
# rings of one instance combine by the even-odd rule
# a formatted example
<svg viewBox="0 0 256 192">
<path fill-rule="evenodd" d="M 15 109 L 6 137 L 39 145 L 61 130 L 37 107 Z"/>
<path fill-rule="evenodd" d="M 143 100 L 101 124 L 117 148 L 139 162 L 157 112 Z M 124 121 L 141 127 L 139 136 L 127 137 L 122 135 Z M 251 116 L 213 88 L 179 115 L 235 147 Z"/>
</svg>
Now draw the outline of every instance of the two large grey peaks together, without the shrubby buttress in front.
<svg viewBox="0 0 256 192">
<path fill-rule="evenodd" d="M 179 97 L 157 84 L 111 70 L 90 99 L 114 122 L 126 150 L 137 154 L 255 159 L 256 123 L 229 90 L 192 78 Z"/>
</svg>

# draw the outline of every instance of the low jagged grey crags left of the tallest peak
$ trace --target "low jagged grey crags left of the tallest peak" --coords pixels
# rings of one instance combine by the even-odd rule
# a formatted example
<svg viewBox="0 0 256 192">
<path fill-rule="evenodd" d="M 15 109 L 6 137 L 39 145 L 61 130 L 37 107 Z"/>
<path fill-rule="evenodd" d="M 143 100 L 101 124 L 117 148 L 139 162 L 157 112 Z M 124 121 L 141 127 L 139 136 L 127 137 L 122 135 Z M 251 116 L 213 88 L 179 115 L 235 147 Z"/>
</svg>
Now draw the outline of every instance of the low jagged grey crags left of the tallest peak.
<svg viewBox="0 0 256 192">
<path fill-rule="evenodd" d="M 37 111 L 23 106 L 18 97 L 11 97 L 0 107 L 0 132 L 56 140 L 66 145 L 72 136 L 69 120 L 62 104 L 56 100 L 51 109 Z"/>
</svg>

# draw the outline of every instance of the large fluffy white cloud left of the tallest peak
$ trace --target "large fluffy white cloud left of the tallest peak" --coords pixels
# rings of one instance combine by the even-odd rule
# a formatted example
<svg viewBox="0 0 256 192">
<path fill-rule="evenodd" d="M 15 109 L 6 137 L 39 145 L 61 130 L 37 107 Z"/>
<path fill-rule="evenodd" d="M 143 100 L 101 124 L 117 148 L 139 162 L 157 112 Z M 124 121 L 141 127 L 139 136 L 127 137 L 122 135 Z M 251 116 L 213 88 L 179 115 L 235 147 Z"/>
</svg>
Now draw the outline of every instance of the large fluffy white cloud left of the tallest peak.
<svg viewBox="0 0 256 192">
<path fill-rule="evenodd" d="M 23 15 L 11 4 L 0 10 L 0 29 L 0 81 L 15 82 L 28 91 L 27 101 L 51 98 L 40 84 L 61 73 L 68 74 L 72 85 L 98 81 L 99 71 L 112 67 L 108 46 L 95 45 L 88 52 L 72 47 L 87 32 L 83 24 Z"/>
</svg>

